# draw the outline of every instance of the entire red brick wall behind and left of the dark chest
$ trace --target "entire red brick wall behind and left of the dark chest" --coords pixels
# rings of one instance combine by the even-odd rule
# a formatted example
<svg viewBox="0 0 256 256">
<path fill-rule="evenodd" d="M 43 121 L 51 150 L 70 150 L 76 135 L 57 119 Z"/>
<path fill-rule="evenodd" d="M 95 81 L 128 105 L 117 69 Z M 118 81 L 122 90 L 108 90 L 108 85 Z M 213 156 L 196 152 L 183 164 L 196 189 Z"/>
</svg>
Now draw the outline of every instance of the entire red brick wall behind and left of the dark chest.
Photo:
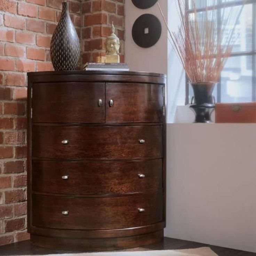
<svg viewBox="0 0 256 256">
<path fill-rule="evenodd" d="M 124 53 L 125 0 L 69 0 L 82 63 L 103 54 L 114 21 Z M 26 72 L 53 70 L 50 39 L 62 0 L 0 0 L 0 246 L 26 232 Z M 79 65 L 80 66 L 80 65 Z"/>
</svg>

